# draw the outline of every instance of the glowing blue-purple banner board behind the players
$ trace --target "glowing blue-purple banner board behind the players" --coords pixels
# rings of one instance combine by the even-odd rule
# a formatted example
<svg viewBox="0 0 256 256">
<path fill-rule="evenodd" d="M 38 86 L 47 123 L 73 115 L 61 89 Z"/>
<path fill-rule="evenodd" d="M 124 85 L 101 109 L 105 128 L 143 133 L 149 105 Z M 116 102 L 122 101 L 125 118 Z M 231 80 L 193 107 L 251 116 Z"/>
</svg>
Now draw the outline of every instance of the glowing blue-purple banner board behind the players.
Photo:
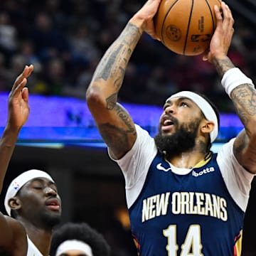
<svg viewBox="0 0 256 256">
<path fill-rule="evenodd" d="M 0 95 L 0 132 L 4 130 L 7 119 L 8 95 Z M 30 95 L 30 115 L 21 129 L 18 142 L 101 142 L 94 119 L 85 100 L 72 97 L 53 97 Z M 156 134 L 161 107 L 122 103 L 131 114 L 134 122 L 144 127 L 151 136 Z M 236 114 L 220 114 L 220 132 L 217 142 L 235 137 L 242 129 Z"/>
</svg>

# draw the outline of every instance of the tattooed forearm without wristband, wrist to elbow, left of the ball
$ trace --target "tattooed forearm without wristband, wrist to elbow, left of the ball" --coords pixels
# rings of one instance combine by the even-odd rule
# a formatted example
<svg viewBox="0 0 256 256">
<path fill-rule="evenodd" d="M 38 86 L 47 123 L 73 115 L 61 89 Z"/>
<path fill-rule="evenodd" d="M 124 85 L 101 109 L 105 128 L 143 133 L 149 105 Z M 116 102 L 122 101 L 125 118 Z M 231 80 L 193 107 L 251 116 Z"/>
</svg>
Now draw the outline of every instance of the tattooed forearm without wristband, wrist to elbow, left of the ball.
<svg viewBox="0 0 256 256">
<path fill-rule="evenodd" d="M 141 33 L 139 28 L 132 23 L 128 23 L 119 38 L 110 46 L 107 53 L 103 56 L 97 70 L 95 71 L 94 80 L 103 79 L 105 81 L 110 78 L 114 80 L 114 87 L 119 90 L 124 80 L 124 72 L 127 68 L 129 58 L 137 45 Z"/>
</svg>

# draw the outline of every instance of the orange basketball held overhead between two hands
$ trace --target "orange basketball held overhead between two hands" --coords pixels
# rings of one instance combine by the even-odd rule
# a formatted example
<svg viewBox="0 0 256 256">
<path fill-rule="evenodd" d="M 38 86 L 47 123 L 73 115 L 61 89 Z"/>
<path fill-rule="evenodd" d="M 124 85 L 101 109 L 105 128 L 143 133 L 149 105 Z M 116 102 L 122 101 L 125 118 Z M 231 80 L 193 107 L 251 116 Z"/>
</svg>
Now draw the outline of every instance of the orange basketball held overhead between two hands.
<svg viewBox="0 0 256 256">
<path fill-rule="evenodd" d="M 214 5 L 220 0 L 162 0 L 154 17 L 156 35 L 169 50 L 200 55 L 216 27 Z"/>
</svg>

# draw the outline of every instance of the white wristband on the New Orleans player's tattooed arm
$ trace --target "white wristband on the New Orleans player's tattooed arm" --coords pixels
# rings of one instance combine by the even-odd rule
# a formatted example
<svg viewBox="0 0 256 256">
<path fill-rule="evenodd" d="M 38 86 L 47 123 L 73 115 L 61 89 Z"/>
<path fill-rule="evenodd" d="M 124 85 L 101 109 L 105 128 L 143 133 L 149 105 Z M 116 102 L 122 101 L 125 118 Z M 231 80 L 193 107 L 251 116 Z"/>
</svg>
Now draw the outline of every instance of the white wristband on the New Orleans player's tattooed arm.
<svg viewBox="0 0 256 256">
<path fill-rule="evenodd" d="M 239 85 L 250 84 L 253 85 L 252 80 L 242 73 L 239 68 L 230 68 L 221 80 L 221 85 L 227 92 L 228 96 L 231 97 L 231 92 Z"/>
</svg>

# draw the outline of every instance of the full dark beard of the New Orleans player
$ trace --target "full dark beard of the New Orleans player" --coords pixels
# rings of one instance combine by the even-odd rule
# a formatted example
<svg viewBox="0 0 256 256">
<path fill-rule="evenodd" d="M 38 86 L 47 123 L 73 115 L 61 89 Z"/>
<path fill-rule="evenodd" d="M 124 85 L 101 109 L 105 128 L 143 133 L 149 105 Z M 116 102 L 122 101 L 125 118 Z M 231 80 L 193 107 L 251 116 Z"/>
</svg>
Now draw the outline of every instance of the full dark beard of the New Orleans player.
<svg viewBox="0 0 256 256">
<path fill-rule="evenodd" d="M 159 133 L 154 137 L 157 148 L 160 151 L 165 151 L 166 156 L 178 156 L 183 152 L 191 151 L 196 145 L 196 134 L 201 119 L 196 119 L 188 124 L 178 124 L 178 120 L 174 122 L 176 132 L 171 135 L 163 135 L 161 127 Z"/>
</svg>

